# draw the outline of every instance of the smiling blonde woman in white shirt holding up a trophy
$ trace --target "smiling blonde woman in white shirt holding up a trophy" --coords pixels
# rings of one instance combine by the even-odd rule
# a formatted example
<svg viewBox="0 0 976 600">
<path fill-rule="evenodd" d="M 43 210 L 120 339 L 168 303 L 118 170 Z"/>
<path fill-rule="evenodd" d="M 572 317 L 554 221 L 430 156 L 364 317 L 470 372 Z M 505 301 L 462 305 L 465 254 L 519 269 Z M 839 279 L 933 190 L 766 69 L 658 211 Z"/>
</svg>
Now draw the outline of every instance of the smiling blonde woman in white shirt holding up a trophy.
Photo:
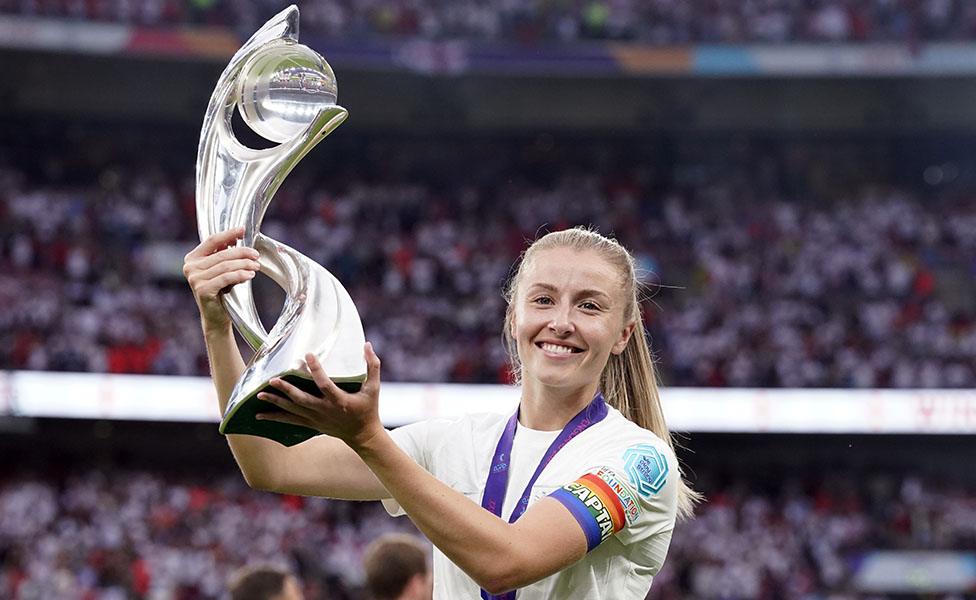
<svg viewBox="0 0 976 600">
<path fill-rule="evenodd" d="M 244 369 L 220 290 L 254 277 L 257 253 L 217 234 L 186 257 L 224 409 Z M 511 417 L 466 416 L 386 431 L 380 361 L 365 347 L 362 389 L 346 393 L 311 354 L 323 397 L 288 383 L 263 418 L 327 435 L 285 448 L 228 436 L 249 485 L 381 499 L 439 552 L 435 598 L 643 598 L 676 516 L 698 496 L 681 479 L 640 326 L 630 254 L 585 229 L 550 233 L 507 290 L 504 335 L 521 380 Z M 480 588 L 480 592 L 479 592 Z M 507 594 L 506 594 L 507 593 Z"/>
</svg>

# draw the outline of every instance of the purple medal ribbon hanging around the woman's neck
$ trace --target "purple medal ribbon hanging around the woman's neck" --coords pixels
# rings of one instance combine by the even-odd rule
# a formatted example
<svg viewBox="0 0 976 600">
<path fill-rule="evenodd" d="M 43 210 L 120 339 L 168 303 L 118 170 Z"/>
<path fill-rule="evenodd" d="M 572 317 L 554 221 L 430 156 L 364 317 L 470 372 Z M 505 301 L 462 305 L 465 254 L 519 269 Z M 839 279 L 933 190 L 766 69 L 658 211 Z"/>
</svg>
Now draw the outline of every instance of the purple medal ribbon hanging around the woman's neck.
<svg viewBox="0 0 976 600">
<path fill-rule="evenodd" d="M 509 523 L 517 521 L 528 508 L 532 486 L 535 485 L 536 479 L 542 474 L 549 461 L 556 456 L 556 453 L 562 450 L 563 446 L 568 444 L 571 439 L 586 431 L 590 426 L 602 421 L 607 416 L 607 412 L 607 403 L 603 399 L 603 394 L 597 392 L 593 400 L 583 410 L 576 413 L 576 416 L 570 419 L 569 423 L 566 423 L 566 426 L 563 427 L 563 430 L 559 432 L 559 435 L 556 436 L 556 439 L 553 440 L 549 449 L 542 456 L 539 466 L 535 468 L 535 473 L 532 474 L 528 485 L 525 486 L 522 497 L 515 505 L 515 509 L 512 510 L 512 516 L 508 519 Z M 518 416 L 519 409 L 515 409 L 515 414 L 509 418 L 505 430 L 502 431 L 502 436 L 498 439 L 498 446 L 495 448 L 495 454 L 491 458 L 491 467 L 488 469 L 485 492 L 481 496 L 482 508 L 498 517 L 502 516 L 502 504 L 505 502 L 505 492 L 508 490 L 508 467 L 512 460 L 512 445 L 515 443 Z M 481 590 L 481 597 L 483 600 L 515 600 L 515 590 L 500 596 L 493 596 L 485 590 Z"/>
</svg>

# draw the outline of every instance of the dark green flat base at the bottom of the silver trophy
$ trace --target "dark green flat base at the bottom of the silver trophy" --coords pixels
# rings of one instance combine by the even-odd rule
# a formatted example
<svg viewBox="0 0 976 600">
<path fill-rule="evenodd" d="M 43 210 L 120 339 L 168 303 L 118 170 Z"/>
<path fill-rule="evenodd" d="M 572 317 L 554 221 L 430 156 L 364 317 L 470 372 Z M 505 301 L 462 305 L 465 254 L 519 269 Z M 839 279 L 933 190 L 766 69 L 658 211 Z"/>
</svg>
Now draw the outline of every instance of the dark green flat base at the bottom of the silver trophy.
<svg viewBox="0 0 976 600">
<path fill-rule="evenodd" d="M 322 396 L 322 392 L 319 391 L 318 386 L 311 379 L 306 379 L 305 377 L 300 377 L 295 374 L 283 375 L 281 378 L 299 388 L 303 392 L 308 392 L 313 396 Z M 338 386 L 339 389 L 350 393 L 358 392 L 362 385 L 363 384 L 361 381 L 336 382 L 336 386 Z M 234 407 L 232 412 L 229 412 L 224 416 L 223 421 L 220 423 L 220 433 L 224 435 L 227 435 L 228 433 L 256 435 L 259 437 L 268 438 L 269 440 L 274 440 L 282 446 L 294 446 L 317 435 L 322 435 L 321 432 L 309 427 L 292 425 L 290 423 L 258 420 L 258 413 L 277 412 L 281 410 L 270 402 L 259 400 L 257 396 L 260 392 L 268 392 L 284 397 L 284 394 L 277 389 L 271 387 L 267 383 L 264 384 L 262 387 L 255 390 L 253 394 L 250 394 L 247 398 L 242 400 L 236 407 Z"/>
</svg>

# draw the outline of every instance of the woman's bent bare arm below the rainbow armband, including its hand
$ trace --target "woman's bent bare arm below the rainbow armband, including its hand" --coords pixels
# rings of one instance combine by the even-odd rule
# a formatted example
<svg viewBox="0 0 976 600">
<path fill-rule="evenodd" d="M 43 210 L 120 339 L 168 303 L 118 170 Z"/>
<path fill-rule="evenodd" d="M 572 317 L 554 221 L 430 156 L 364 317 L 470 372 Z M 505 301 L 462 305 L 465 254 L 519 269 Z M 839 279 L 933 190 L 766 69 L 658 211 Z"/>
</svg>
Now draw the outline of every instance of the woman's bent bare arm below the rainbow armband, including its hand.
<svg viewBox="0 0 976 600">
<path fill-rule="evenodd" d="M 379 358 L 370 344 L 365 354 L 369 371 L 359 392 L 339 389 L 309 354 L 306 363 L 323 397 L 274 380 L 272 385 L 287 397 L 260 397 L 282 411 L 259 418 L 312 427 L 342 439 L 424 535 L 489 593 L 539 581 L 586 554 L 586 535 L 559 501 L 543 498 L 515 523 L 508 523 L 451 489 L 401 450 L 379 420 Z"/>
</svg>

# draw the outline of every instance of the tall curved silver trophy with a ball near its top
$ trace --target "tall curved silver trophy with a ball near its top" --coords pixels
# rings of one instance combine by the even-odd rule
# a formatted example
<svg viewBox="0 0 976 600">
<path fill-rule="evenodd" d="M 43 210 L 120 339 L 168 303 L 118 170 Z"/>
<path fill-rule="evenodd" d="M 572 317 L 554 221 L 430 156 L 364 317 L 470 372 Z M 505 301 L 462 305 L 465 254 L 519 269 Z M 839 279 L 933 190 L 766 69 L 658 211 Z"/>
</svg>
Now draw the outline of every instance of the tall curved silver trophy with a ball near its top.
<svg viewBox="0 0 976 600">
<path fill-rule="evenodd" d="M 258 435 L 286 446 L 318 432 L 259 421 L 274 406 L 258 392 L 281 377 L 319 394 L 304 356 L 314 353 L 340 387 L 356 390 L 366 379 L 363 326 L 349 293 L 324 267 L 259 229 L 271 198 L 308 152 L 348 116 L 336 105 L 335 74 L 318 53 L 298 43 L 294 5 L 264 24 L 224 69 L 210 97 L 197 153 L 197 226 L 200 239 L 244 227 L 240 242 L 260 254 L 261 272 L 285 291 L 278 321 L 267 331 L 258 317 L 251 281 L 223 295 L 234 326 L 254 356 L 234 387 L 220 432 Z M 231 117 L 279 145 L 255 150 L 235 137 Z M 252 280 L 253 281 L 253 280 Z"/>
</svg>

